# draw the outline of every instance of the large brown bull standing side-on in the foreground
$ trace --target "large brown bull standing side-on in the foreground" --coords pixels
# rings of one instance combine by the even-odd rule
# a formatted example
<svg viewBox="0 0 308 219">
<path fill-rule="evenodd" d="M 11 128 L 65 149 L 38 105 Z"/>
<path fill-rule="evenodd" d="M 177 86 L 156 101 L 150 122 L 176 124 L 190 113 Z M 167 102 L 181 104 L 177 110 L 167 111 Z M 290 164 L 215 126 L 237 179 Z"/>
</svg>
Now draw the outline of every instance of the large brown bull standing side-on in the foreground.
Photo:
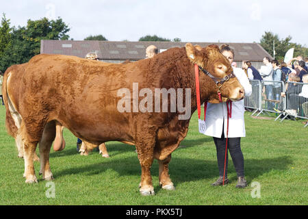
<svg viewBox="0 0 308 219">
<path fill-rule="evenodd" d="M 125 65 L 106 66 L 101 62 L 66 55 L 36 55 L 20 74 L 18 91 L 10 87 L 10 74 L 14 73 L 16 67 L 8 68 L 3 82 L 8 83 L 8 86 L 3 86 L 5 105 L 8 105 L 14 92 L 20 101 L 18 105 L 12 105 L 14 110 L 11 112 L 16 112 L 17 116 L 14 117 L 7 110 L 6 115 L 12 118 L 6 122 L 16 125 L 16 117 L 21 118 L 19 129 L 24 144 L 26 183 L 37 182 L 33 157 L 38 143 L 43 179 L 53 179 L 49 151 L 55 139 L 56 123 L 60 123 L 75 136 L 91 144 L 99 145 L 107 141 L 135 144 L 142 168 L 141 194 L 154 194 L 150 172 L 154 158 L 159 163 L 159 185 L 166 190 L 173 190 L 175 187 L 168 174 L 168 163 L 172 151 L 177 149 L 188 133 L 190 116 L 196 110 L 194 63 L 219 79 L 232 72 L 228 60 L 217 46 L 201 49 L 192 44 Z M 203 72 L 199 73 L 199 78 L 201 103 L 218 99 L 218 86 L 214 80 Z M 138 103 L 145 99 L 140 96 L 137 96 L 137 108 L 136 99 L 125 99 L 124 102 L 129 103 L 125 104 L 125 109 L 133 110 L 122 112 L 118 102 L 123 101 L 123 96 L 118 95 L 118 90 L 126 88 L 136 97 L 134 84 L 138 84 L 140 91 L 149 89 L 153 93 L 155 88 L 190 89 L 191 105 L 188 107 L 187 101 L 185 105 L 185 109 L 190 109 L 189 118 L 180 119 L 184 113 L 179 110 L 155 112 L 155 108 L 155 111 L 140 112 Z M 244 89 L 235 77 L 224 82 L 220 90 L 224 101 L 227 98 L 238 100 L 244 96 Z M 183 99 L 187 100 L 186 97 L 184 95 Z M 149 96 L 146 98 L 147 107 L 151 103 L 154 105 L 154 99 Z M 166 99 L 160 95 L 159 99 L 159 106 L 162 106 Z M 168 99 L 168 109 L 170 102 Z"/>
</svg>

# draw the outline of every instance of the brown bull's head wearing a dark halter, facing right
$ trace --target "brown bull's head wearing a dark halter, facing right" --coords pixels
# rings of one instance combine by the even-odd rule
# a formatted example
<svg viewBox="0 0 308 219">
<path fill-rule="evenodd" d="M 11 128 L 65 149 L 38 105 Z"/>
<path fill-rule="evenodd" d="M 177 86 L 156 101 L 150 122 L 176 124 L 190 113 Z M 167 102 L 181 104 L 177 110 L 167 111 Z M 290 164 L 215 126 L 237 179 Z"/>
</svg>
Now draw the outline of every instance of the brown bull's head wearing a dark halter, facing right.
<svg viewBox="0 0 308 219">
<path fill-rule="evenodd" d="M 202 48 L 198 45 L 193 46 L 190 43 L 185 45 L 186 53 L 190 61 L 199 66 L 200 81 L 205 81 L 207 77 L 211 77 L 211 82 L 216 83 L 216 90 L 221 92 L 222 101 L 231 99 L 238 101 L 244 98 L 244 88 L 233 75 L 233 68 L 222 53 L 220 53 L 217 45 L 209 45 Z M 201 84 L 201 92 L 203 90 Z M 211 103 L 219 103 L 218 94 L 212 94 L 209 97 Z"/>
</svg>

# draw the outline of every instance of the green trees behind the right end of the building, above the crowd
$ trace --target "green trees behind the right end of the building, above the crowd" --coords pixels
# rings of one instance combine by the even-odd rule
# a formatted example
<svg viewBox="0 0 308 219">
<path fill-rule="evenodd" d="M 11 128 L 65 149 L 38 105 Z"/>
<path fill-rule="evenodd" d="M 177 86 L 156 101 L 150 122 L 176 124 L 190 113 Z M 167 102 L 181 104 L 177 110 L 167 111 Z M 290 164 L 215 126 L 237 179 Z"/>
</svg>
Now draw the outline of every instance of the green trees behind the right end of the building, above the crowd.
<svg viewBox="0 0 308 219">
<path fill-rule="evenodd" d="M 266 31 L 260 40 L 261 47 L 263 47 L 270 55 L 273 56 L 273 42 L 275 43 L 275 59 L 283 60 L 285 53 L 294 48 L 294 57 L 297 55 L 308 56 L 308 48 L 303 47 L 301 44 L 291 42 L 292 36 L 287 36 L 285 39 L 279 39 L 278 34 L 273 34 L 270 31 Z"/>
</svg>

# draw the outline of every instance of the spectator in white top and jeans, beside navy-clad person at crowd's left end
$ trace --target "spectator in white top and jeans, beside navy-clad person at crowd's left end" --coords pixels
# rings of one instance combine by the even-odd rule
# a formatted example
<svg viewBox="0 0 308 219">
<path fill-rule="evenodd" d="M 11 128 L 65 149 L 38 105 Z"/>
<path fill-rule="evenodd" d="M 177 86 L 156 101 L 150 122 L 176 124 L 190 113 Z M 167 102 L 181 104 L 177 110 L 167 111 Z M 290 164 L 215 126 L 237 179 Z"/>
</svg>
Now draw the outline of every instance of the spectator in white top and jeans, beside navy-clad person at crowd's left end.
<svg viewBox="0 0 308 219">
<path fill-rule="evenodd" d="M 260 75 L 264 79 L 264 86 L 265 86 L 265 92 L 266 92 L 266 99 L 272 100 L 272 64 L 270 63 L 269 57 L 264 57 L 263 63 L 265 66 L 261 66 L 259 69 Z M 274 103 L 271 101 L 268 101 L 268 110 L 272 110 L 274 107 Z"/>
</svg>

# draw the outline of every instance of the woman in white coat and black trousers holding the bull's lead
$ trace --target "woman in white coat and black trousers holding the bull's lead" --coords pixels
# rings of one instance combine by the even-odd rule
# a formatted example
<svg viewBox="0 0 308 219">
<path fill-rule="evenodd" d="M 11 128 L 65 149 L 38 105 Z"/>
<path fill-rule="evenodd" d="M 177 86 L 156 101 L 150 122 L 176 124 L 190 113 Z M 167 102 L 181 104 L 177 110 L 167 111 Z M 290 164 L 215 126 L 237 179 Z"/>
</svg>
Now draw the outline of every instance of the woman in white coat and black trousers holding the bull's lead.
<svg viewBox="0 0 308 219">
<path fill-rule="evenodd" d="M 227 57 L 230 64 L 234 59 L 234 51 L 227 44 L 220 46 L 220 52 Z M 234 68 L 233 73 L 238 78 L 241 85 L 244 87 L 245 96 L 250 96 L 252 93 L 251 84 L 248 77 L 242 68 Z M 207 113 L 205 118 L 205 135 L 212 136 L 216 145 L 219 178 L 211 185 L 222 185 L 229 183 L 227 178 L 228 166 L 228 153 L 226 159 L 226 168 L 224 172 L 224 159 L 226 152 L 227 141 L 227 104 L 228 103 L 207 103 Z M 241 137 L 245 137 L 245 124 L 244 124 L 244 99 L 241 101 L 229 103 L 231 110 L 231 118 L 229 118 L 229 131 L 228 131 L 228 144 L 230 155 L 238 175 L 238 183 L 236 188 L 244 188 L 247 186 L 246 179 L 244 178 L 244 157 L 242 154 L 240 141 Z M 224 179 L 224 183 L 223 182 Z"/>
</svg>

